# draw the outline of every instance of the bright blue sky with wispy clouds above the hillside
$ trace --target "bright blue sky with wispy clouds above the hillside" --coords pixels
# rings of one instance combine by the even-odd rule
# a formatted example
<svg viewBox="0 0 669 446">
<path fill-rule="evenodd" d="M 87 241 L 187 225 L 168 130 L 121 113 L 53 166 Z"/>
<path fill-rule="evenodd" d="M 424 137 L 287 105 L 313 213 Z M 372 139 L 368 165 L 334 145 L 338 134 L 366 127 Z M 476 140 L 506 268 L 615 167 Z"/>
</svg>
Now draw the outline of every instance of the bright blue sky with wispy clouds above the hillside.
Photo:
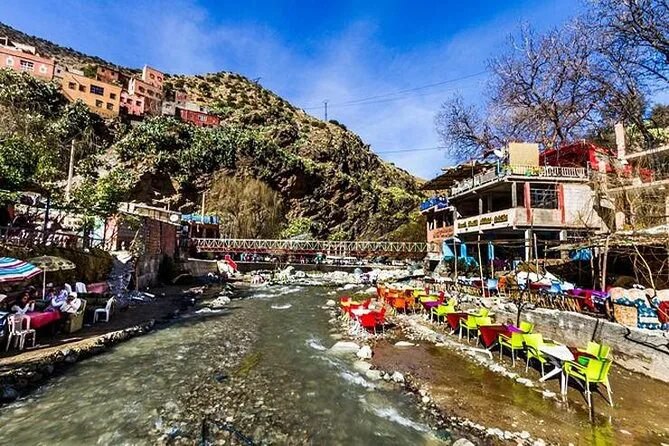
<svg viewBox="0 0 669 446">
<path fill-rule="evenodd" d="M 327 99 L 330 119 L 430 178 L 447 154 L 406 150 L 440 145 L 433 120 L 441 102 L 460 93 L 480 103 L 485 62 L 510 32 L 522 22 L 559 25 L 580 7 L 579 0 L 3 0 L 0 21 L 120 65 L 261 78 L 318 117 Z M 395 94 L 431 84 L 439 85 Z"/>
</svg>

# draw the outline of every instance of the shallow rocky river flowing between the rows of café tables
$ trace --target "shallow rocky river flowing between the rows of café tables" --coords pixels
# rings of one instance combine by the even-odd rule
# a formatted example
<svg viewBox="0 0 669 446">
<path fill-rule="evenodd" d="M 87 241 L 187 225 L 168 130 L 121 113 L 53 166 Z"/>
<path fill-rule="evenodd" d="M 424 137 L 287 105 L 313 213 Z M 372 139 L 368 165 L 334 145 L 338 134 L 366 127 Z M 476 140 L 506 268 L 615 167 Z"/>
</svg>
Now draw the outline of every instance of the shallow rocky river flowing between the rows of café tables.
<svg viewBox="0 0 669 446">
<path fill-rule="evenodd" d="M 327 352 L 326 293 L 247 291 L 220 314 L 77 364 L 0 411 L 0 444 L 193 444 L 230 431 L 276 444 L 441 442 L 412 396 Z M 227 430 L 203 429 L 204 417 Z"/>
</svg>

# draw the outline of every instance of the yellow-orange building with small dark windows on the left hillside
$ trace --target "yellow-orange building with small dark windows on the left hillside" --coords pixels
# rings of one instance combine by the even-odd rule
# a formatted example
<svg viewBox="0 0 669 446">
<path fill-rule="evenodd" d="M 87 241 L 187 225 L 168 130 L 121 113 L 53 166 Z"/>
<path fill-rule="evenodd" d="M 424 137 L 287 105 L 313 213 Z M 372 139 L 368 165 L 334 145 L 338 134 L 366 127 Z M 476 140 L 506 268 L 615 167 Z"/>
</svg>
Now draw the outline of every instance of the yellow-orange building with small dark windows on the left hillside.
<svg viewBox="0 0 669 446">
<path fill-rule="evenodd" d="M 60 89 L 69 101 L 81 100 L 94 113 L 105 118 L 118 116 L 121 87 L 73 72 L 62 72 L 61 76 Z"/>
</svg>

